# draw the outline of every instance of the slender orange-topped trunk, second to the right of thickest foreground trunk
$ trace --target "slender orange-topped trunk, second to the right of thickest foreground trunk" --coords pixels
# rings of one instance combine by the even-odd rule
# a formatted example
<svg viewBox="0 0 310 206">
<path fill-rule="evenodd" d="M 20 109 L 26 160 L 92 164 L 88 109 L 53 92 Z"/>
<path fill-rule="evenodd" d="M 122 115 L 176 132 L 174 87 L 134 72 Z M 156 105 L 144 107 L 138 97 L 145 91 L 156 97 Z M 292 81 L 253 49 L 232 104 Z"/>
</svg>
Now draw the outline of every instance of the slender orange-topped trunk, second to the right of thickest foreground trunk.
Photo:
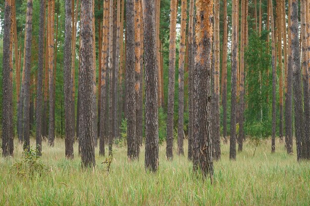
<svg viewBox="0 0 310 206">
<path fill-rule="evenodd" d="M 222 57 L 222 105 L 223 105 L 223 136 L 224 143 L 227 143 L 227 0 L 223 2 L 223 57 Z"/>
</svg>

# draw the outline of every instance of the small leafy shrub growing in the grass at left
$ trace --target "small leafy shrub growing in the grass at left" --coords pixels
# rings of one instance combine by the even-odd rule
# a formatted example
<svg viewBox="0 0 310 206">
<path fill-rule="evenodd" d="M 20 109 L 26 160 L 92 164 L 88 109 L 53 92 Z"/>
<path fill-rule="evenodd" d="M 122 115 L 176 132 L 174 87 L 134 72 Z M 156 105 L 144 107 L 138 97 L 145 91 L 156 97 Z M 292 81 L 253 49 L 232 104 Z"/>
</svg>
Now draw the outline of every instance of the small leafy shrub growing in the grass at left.
<svg viewBox="0 0 310 206">
<path fill-rule="evenodd" d="M 29 151 L 24 151 L 22 159 L 15 162 L 10 171 L 21 177 L 33 178 L 36 175 L 42 176 L 46 174 L 49 168 L 42 163 L 37 151 L 30 148 Z"/>
</svg>

